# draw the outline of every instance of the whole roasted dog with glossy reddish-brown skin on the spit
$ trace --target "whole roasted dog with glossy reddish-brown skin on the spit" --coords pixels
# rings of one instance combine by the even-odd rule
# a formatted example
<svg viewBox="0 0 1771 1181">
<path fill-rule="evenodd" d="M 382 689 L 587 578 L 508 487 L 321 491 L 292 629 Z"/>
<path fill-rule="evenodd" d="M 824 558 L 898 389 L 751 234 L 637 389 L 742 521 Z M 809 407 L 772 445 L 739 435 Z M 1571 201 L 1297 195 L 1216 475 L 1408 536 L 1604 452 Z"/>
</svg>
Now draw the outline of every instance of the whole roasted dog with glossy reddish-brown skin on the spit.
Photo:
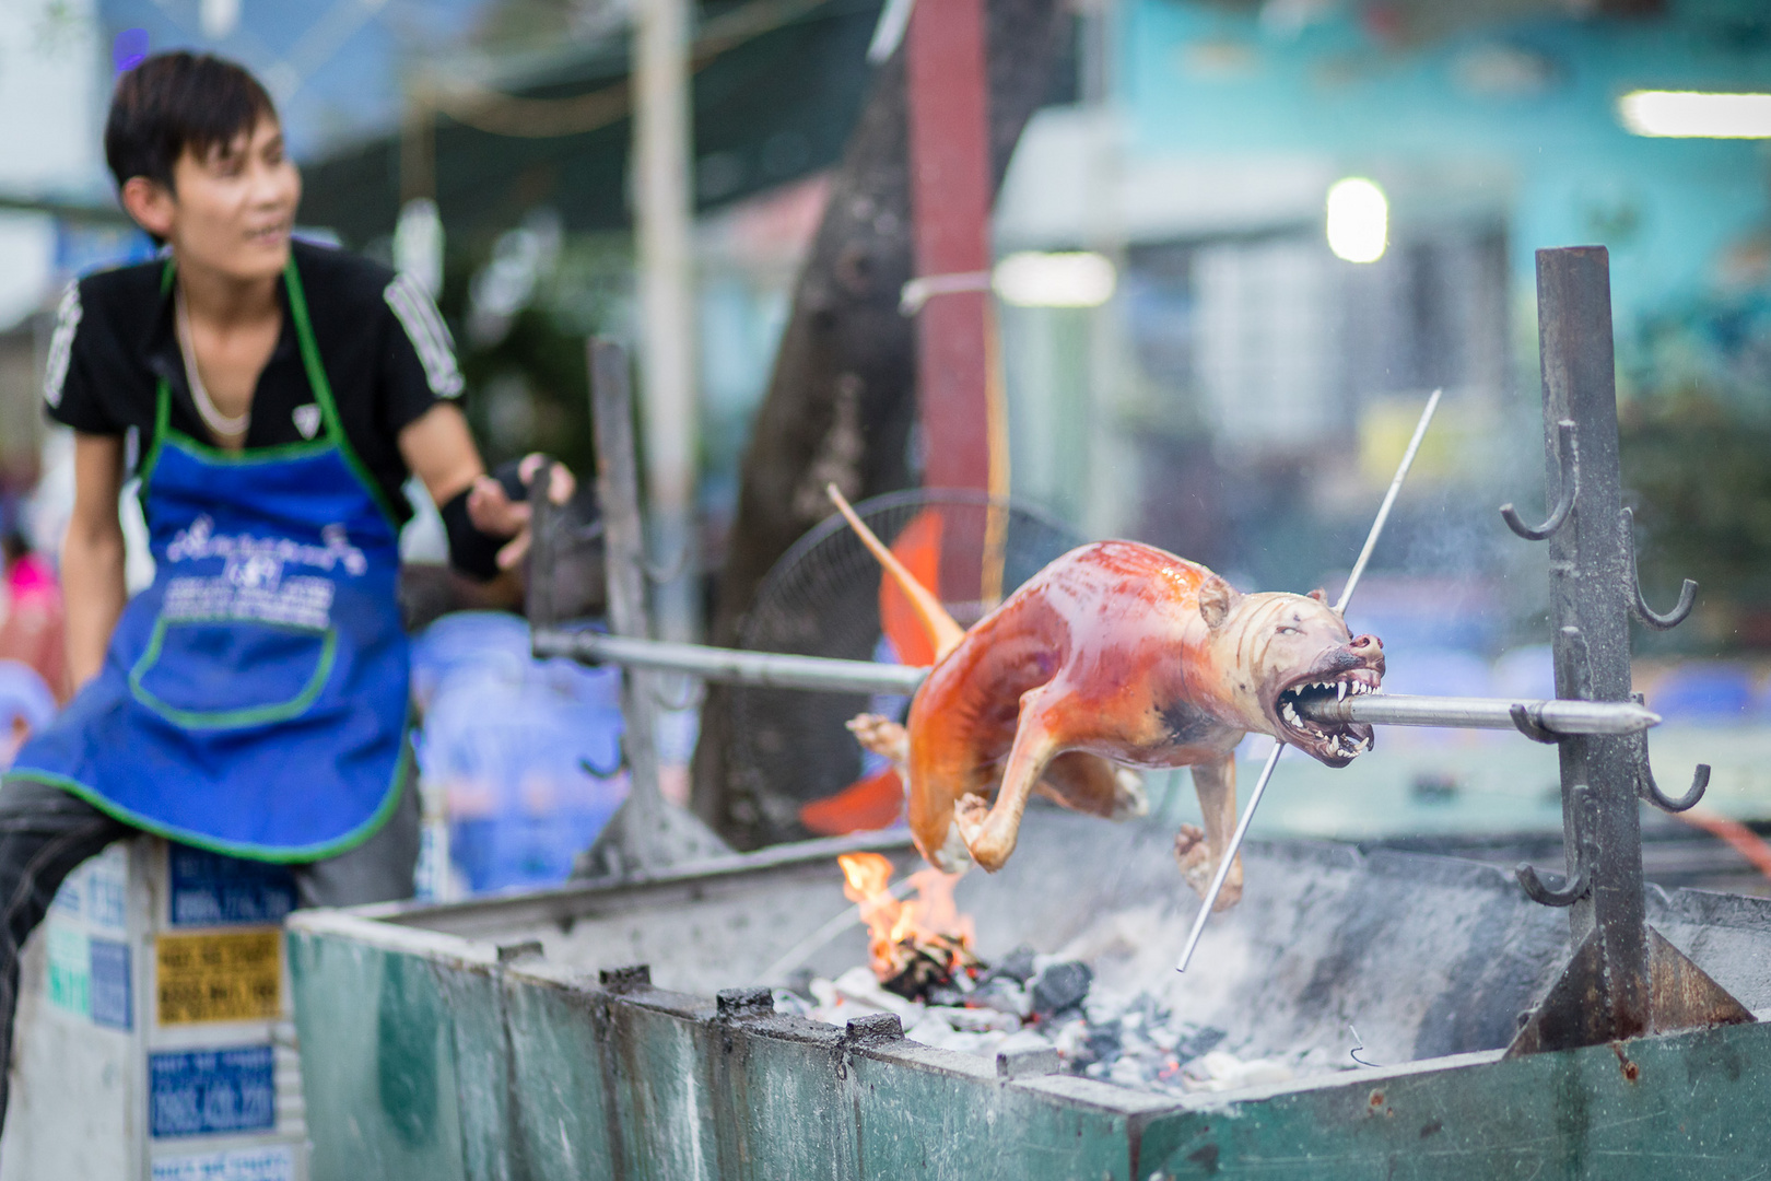
<svg viewBox="0 0 1771 1181">
<path fill-rule="evenodd" d="M 1371 749 L 1371 726 L 1318 726 L 1293 710 L 1311 694 L 1373 692 L 1383 678 L 1383 645 L 1350 634 L 1321 591 L 1241 595 L 1153 545 L 1096 542 L 962 632 L 838 506 L 935 639 L 905 726 L 862 715 L 850 728 L 898 763 L 910 834 L 949 873 L 972 861 L 1001 869 L 1034 790 L 1123 818 L 1144 811 L 1141 777 L 1125 768 L 1192 767 L 1204 830 L 1185 825 L 1176 855 L 1204 892 L 1236 827 L 1233 751 L 1243 735 L 1282 738 L 1330 767 Z M 1240 896 L 1236 864 L 1218 907 Z"/>
</svg>

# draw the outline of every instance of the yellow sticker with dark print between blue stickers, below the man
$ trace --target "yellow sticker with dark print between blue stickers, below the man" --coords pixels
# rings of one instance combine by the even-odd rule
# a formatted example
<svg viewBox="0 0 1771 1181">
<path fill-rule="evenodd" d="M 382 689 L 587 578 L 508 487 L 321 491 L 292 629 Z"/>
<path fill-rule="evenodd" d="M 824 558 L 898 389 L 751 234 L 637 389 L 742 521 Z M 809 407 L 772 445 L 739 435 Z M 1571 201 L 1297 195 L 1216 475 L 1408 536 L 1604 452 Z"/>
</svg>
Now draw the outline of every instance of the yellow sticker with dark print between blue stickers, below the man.
<svg viewBox="0 0 1771 1181">
<path fill-rule="evenodd" d="M 282 930 L 161 935 L 154 979 L 161 1025 L 259 1022 L 283 1013 Z"/>
</svg>

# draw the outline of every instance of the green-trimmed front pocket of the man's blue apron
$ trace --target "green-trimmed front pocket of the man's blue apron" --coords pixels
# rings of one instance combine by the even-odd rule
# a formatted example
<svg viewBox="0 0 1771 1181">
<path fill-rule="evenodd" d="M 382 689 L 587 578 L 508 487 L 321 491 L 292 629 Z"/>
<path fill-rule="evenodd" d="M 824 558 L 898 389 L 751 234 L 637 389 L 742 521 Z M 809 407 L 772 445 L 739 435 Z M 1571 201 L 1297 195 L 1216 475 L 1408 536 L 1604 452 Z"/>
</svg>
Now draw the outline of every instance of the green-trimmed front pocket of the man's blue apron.
<svg viewBox="0 0 1771 1181">
<path fill-rule="evenodd" d="M 336 655 L 333 629 L 161 618 L 129 669 L 129 692 L 186 729 L 266 726 L 305 714 Z"/>
</svg>

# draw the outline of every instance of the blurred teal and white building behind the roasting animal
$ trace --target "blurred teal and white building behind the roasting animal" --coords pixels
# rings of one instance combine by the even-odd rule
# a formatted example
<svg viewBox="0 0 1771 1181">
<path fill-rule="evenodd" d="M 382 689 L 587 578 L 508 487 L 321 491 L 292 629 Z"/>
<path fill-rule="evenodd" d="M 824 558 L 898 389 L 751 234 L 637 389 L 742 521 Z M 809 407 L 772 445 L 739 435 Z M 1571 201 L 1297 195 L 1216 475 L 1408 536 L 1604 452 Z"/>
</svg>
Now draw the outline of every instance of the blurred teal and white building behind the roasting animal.
<svg viewBox="0 0 1771 1181">
<path fill-rule="evenodd" d="M 1507 606 L 1541 595 L 1495 517 L 1539 503 L 1534 250 L 1610 248 L 1626 367 L 1658 317 L 1764 290 L 1764 140 L 1635 135 L 1619 99 L 1771 90 L 1771 14 L 1125 0 L 1103 19 L 1100 101 L 1034 119 L 997 209 L 1001 253 L 1119 269 L 1098 308 L 1006 312 L 1017 489 L 1302 590 L 1350 563 L 1442 386 L 1378 565 L 1473 613 L 1445 643 L 1502 643 Z M 1342 179 L 1387 200 L 1376 260 L 1325 235 Z M 1496 598 L 1447 602 L 1445 577 Z"/>
</svg>

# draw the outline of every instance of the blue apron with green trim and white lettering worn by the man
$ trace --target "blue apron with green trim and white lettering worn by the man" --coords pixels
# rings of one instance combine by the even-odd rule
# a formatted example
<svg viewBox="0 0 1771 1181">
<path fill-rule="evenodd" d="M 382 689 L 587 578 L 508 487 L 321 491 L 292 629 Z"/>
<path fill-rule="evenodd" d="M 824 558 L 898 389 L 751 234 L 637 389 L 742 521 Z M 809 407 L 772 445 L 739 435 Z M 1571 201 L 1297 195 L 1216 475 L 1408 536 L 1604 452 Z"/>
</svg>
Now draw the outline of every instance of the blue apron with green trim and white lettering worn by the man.
<svg viewBox="0 0 1771 1181">
<path fill-rule="evenodd" d="M 170 428 L 159 381 L 142 464 L 154 584 L 7 779 L 186 845 L 315 861 L 400 799 L 409 659 L 398 529 L 338 423 L 294 259 L 283 283 L 324 434 L 223 452 Z"/>
</svg>

